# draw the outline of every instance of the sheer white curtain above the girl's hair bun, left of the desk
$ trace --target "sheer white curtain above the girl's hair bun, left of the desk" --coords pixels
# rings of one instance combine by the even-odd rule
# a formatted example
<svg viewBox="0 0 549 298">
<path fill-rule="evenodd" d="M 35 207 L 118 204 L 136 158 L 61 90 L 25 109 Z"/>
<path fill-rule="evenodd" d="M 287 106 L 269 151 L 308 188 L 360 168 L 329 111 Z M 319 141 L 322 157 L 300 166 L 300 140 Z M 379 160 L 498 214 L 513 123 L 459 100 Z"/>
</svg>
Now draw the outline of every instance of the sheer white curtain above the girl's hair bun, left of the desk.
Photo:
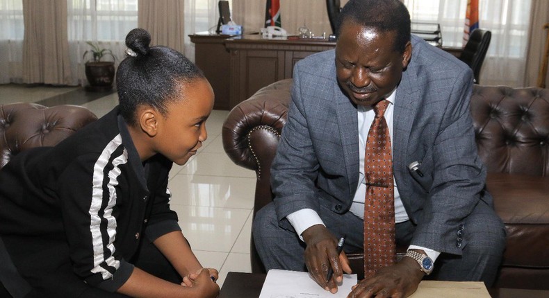
<svg viewBox="0 0 549 298">
<path fill-rule="evenodd" d="M 243 0 L 236 0 L 243 1 Z M 258 1 L 258 0 L 254 0 Z M 233 1 L 229 0 L 229 8 L 233 12 Z M 184 30 L 185 35 L 185 51 L 189 60 L 195 61 L 195 44 L 190 42 L 189 35 L 195 33 L 211 33 L 215 34 L 215 29 L 218 26 L 219 9 L 218 0 L 185 0 L 185 16 Z M 231 13 L 232 17 L 232 13 Z M 234 18 L 233 18 L 234 21 Z"/>
</svg>

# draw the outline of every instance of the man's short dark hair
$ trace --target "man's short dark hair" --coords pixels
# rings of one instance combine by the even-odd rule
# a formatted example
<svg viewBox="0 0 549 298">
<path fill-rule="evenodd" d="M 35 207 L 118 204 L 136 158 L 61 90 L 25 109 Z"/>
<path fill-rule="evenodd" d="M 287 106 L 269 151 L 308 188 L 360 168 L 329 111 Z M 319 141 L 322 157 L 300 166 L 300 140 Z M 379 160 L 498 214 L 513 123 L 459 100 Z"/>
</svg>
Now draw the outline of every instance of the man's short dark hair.
<svg viewBox="0 0 549 298">
<path fill-rule="evenodd" d="M 400 53 L 410 41 L 410 14 L 398 0 L 350 0 L 339 14 L 337 35 L 348 22 L 383 32 L 395 31 L 395 51 Z"/>
</svg>

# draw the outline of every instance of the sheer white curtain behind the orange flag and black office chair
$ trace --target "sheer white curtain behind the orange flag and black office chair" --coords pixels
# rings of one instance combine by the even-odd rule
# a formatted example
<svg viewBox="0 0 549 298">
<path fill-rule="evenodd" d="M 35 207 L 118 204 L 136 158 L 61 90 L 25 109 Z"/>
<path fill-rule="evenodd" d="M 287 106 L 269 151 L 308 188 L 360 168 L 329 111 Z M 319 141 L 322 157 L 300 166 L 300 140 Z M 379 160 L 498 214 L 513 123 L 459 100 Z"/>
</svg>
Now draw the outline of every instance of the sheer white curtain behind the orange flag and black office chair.
<svg viewBox="0 0 549 298">
<path fill-rule="evenodd" d="M 412 21 L 441 24 L 443 46 L 462 46 L 467 0 L 404 0 Z M 531 0 L 480 0 L 480 28 L 492 39 L 482 65 L 482 85 L 522 87 Z"/>
</svg>

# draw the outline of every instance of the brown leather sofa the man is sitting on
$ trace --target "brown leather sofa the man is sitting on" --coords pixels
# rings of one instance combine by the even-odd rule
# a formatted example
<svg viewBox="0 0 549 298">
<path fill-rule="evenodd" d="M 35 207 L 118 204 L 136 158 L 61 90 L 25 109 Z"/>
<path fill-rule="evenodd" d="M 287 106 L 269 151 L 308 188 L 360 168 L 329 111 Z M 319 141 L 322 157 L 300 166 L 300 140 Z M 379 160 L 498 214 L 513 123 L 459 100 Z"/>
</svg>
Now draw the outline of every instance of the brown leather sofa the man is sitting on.
<svg viewBox="0 0 549 298">
<path fill-rule="evenodd" d="M 256 211 L 272 201 L 270 166 L 286 123 L 291 79 L 264 87 L 234 107 L 223 125 L 224 150 L 256 171 Z M 498 288 L 549 290 L 549 90 L 475 85 L 471 98 L 486 186 L 507 228 Z M 252 271 L 264 272 L 252 239 Z M 352 254 L 354 272 L 362 255 Z"/>
</svg>

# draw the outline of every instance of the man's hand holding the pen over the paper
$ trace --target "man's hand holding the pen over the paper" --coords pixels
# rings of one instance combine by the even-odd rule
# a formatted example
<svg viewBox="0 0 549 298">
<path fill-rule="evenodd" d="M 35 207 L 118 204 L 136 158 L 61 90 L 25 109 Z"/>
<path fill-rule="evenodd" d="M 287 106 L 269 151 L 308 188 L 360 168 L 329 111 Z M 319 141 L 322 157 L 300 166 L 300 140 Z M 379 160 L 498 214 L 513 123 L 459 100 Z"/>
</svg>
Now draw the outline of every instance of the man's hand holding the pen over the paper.
<svg viewBox="0 0 549 298">
<path fill-rule="evenodd" d="M 343 271 L 351 273 L 349 260 L 345 252 L 338 255 L 338 240 L 323 225 L 313 225 L 302 233 L 306 243 L 305 265 L 311 277 L 322 288 L 332 293 L 338 291 L 337 283 L 343 280 Z M 329 268 L 334 270 L 333 277 L 326 281 Z"/>
</svg>

